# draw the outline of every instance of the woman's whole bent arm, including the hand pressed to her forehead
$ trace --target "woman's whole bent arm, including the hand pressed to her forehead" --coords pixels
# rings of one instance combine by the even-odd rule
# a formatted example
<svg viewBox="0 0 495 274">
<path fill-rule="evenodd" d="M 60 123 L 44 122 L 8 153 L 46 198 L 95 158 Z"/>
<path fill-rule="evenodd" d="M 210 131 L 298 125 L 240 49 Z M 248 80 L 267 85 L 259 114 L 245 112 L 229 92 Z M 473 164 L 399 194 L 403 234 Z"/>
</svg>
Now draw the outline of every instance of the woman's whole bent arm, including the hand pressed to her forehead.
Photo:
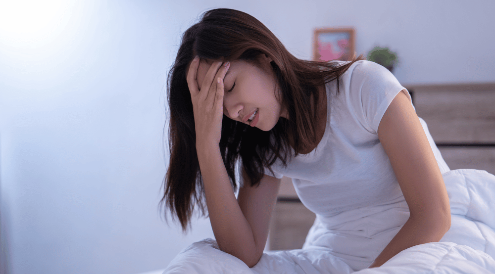
<svg viewBox="0 0 495 274">
<path fill-rule="evenodd" d="M 220 250 L 252 267 L 259 261 L 265 246 L 280 180 L 264 176 L 259 187 L 242 188 L 241 202 L 236 200 L 219 146 L 223 117 L 222 79 L 228 64 L 213 62 L 199 84 L 199 59 L 195 58 L 189 65 L 187 82 L 193 103 L 199 169 L 215 239 Z M 243 177 L 247 182 L 246 176 Z"/>
</svg>

